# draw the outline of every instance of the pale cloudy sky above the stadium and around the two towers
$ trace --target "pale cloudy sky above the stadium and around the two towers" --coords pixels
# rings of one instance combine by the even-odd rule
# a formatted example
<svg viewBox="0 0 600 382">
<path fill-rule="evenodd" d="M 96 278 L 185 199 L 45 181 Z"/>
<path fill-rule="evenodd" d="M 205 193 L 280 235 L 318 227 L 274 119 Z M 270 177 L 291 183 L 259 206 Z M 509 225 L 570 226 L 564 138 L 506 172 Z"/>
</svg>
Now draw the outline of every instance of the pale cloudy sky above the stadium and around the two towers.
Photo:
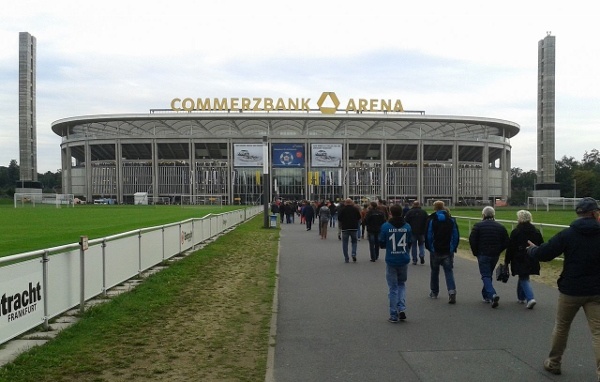
<svg viewBox="0 0 600 382">
<path fill-rule="evenodd" d="M 214 3 L 214 4 L 213 4 Z M 401 99 L 407 110 L 516 122 L 536 169 L 537 43 L 556 36 L 556 158 L 600 149 L 595 5 L 558 1 L 8 0 L 0 14 L 0 166 L 18 152 L 18 34 L 37 39 L 38 171 L 58 119 L 147 113 L 185 97 Z"/>
</svg>

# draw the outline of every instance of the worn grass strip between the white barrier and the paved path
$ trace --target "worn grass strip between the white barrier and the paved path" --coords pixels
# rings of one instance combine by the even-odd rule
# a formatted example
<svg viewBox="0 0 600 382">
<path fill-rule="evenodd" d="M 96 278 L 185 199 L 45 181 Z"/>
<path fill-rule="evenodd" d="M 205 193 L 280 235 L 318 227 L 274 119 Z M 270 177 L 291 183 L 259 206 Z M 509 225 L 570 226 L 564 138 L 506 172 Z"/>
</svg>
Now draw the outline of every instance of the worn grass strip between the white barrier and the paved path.
<svg viewBox="0 0 600 382">
<path fill-rule="evenodd" d="M 262 216 L 86 311 L 0 381 L 257 381 L 266 372 L 279 230 Z"/>
</svg>

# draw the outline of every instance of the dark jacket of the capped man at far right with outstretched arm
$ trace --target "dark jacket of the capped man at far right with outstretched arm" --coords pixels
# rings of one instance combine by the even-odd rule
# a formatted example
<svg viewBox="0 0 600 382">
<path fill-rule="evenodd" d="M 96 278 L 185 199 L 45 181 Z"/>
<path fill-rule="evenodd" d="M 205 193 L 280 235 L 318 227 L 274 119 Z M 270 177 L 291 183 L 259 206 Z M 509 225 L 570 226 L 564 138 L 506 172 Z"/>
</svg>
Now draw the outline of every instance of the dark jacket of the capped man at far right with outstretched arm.
<svg viewBox="0 0 600 382">
<path fill-rule="evenodd" d="M 594 218 L 579 218 L 528 253 L 539 261 L 564 254 L 558 290 L 569 296 L 600 295 L 600 224 Z"/>
</svg>

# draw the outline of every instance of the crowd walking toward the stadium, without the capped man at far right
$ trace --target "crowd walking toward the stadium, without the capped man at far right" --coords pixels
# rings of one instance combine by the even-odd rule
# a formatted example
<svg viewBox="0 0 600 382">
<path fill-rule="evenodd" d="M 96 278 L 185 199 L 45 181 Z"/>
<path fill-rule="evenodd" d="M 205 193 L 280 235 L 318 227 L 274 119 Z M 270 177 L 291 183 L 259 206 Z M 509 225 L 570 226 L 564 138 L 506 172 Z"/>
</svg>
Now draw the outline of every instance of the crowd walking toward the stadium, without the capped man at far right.
<svg viewBox="0 0 600 382">
<path fill-rule="evenodd" d="M 277 201 L 272 204 L 271 212 L 279 214 L 282 224 L 294 224 L 299 219 L 307 231 L 311 231 L 317 223 L 321 240 L 326 240 L 328 231 L 335 230 L 337 226 L 337 237 L 341 241 L 341 252 L 346 263 L 358 261 L 358 243 L 365 236 L 368 240 L 369 261 L 378 261 L 380 250 L 385 250 L 386 266 L 390 267 L 388 271 L 397 276 L 393 282 L 389 275 L 386 276 L 388 283 L 391 282 L 389 296 L 395 296 L 390 297 L 390 306 L 402 308 L 399 308 L 396 315 L 390 314 L 390 321 L 397 322 L 395 316 L 406 317 L 404 302 L 398 302 L 405 299 L 406 282 L 404 270 L 401 271 L 399 267 L 411 262 L 413 265 L 425 265 L 425 249 L 429 252 L 431 271 L 429 297 L 439 297 L 440 270 L 443 270 L 448 303 L 456 304 L 457 301 L 453 269 L 454 255 L 460 239 L 458 224 L 443 201 L 435 201 L 432 207 L 433 211 L 428 214 L 419 201 L 413 201 L 412 206 L 404 203 L 390 207 L 386 201 L 379 200 L 361 206 L 347 198 L 339 203 L 330 200 Z M 497 308 L 500 304 L 493 279 L 504 251 L 504 263 L 510 267 L 512 275 L 518 277 L 517 301 L 525 304 L 528 309 L 533 309 L 536 304 L 529 276 L 539 274 L 540 266 L 538 261 L 526 255 L 526 247 L 528 241 L 539 245 L 543 243 L 543 239 L 539 230 L 533 226 L 529 211 L 519 211 L 517 219 L 518 226 L 509 236 L 506 228 L 495 221 L 494 208 L 486 206 L 482 210 L 482 220 L 473 226 L 469 234 L 469 245 L 477 259 L 483 284 L 482 300 L 492 308 Z M 395 237 L 395 241 L 391 237 Z M 401 311 L 402 315 L 399 313 Z"/>
</svg>

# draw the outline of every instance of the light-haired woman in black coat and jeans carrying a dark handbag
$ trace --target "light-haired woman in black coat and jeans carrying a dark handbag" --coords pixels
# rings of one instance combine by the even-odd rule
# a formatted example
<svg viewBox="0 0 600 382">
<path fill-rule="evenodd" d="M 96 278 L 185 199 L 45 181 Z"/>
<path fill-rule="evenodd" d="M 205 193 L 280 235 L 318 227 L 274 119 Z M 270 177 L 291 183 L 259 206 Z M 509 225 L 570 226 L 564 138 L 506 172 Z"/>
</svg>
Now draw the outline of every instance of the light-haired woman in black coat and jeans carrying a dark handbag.
<svg viewBox="0 0 600 382">
<path fill-rule="evenodd" d="M 510 233 L 510 243 L 506 249 L 506 265 L 510 264 L 513 276 L 518 276 L 517 299 L 521 304 L 527 304 L 527 309 L 533 309 L 536 301 L 529 282 L 529 275 L 540 274 L 540 263 L 527 256 L 527 241 L 536 245 L 544 242 L 540 231 L 531 224 L 531 213 L 527 210 L 517 212 L 517 227 Z"/>
</svg>

